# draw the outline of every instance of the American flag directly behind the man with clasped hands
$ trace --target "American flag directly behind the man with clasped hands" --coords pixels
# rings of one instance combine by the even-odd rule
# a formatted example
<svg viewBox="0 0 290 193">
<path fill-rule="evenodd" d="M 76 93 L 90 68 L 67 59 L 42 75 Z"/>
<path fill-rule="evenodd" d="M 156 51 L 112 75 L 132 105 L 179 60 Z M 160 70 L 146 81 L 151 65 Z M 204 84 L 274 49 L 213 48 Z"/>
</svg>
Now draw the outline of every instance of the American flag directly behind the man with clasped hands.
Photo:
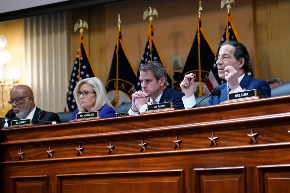
<svg viewBox="0 0 290 193">
<path fill-rule="evenodd" d="M 150 57 L 150 37 L 148 38 L 148 41 L 146 43 L 146 46 L 145 46 L 145 50 L 143 52 L 143 56 L 141 58 L 141 62 L 140 62 L 140 65 L 143 65 L 149 61 L 157 61 L 157 62 L 161 62 L 165 68 L 166 68 L 166 71 L 167 71 L 167 87 L 171 88 L 172 87 L 172 81 L 171 81 L 171 78 L 169 76 L 169 73 L 168 73 L 168 69 L 162 59 L 162 56 L 156 46 L 156 42 L 153 38 L 153 32 L 151 33 L 152 36 L 151 36 L 151 42 L 152 42 L 152 51 L 151 51 L 151 54 L 152 54 L 152 57 Z M 139 67 L 140 67 L 139 65 Z M 135 82 L 134 82 L 134 87 L 133 87 L 133 91 L 138 91 L 138 90 L 141 90 L 141 81 L 139 80 L 140 78 L 140 71 L 139 71 L 139 68 L 138 68 L 138 73 L 137 73 L 137 76 L 135 78 Z"/>
</svg>

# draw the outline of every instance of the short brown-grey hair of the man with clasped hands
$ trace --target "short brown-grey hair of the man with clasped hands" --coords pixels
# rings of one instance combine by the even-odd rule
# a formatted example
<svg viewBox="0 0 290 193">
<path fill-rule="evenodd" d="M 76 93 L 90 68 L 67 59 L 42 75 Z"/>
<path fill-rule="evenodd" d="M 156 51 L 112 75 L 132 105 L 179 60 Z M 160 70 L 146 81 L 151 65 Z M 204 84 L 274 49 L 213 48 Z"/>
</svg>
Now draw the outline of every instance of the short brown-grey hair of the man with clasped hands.
<svg viewBox="0 0 290 193">
<path fill-rule="evenodd" d="M 156 80 L 158 81 L 161 77 L 165 78 L 164 85 L 167 85 L 167 72 L 165 66 L 160 62 L 147 62 L 140 65 L 139 71 L 152 70 Z"/>
</svg>

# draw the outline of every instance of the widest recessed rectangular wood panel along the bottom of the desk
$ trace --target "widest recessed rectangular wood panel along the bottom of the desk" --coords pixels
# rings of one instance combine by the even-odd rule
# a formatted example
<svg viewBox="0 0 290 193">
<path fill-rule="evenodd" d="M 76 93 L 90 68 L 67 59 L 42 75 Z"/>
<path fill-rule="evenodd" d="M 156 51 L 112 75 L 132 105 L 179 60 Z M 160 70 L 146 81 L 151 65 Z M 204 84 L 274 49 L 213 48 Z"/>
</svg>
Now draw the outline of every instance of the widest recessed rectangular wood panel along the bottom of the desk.
<svg viewBox="0 0 290 193">
<path fill-rule="evenodd" d="M 61 193 L 184 192 L 182 170 L 56 175 Z"/>
</svg>

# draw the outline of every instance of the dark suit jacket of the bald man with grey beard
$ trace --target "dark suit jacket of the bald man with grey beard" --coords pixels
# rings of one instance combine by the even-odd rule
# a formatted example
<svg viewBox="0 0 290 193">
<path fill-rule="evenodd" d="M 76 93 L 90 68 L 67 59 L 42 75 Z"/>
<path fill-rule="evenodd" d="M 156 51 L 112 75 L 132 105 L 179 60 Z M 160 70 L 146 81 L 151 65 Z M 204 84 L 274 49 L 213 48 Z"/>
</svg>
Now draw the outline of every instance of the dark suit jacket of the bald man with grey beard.
<svg viewBox="0 0 290 193">
<path fill-rule="evenodd" d="M 31 123 L 35 124 L 35 125 L 47 125 L 47 124 L 50 124 L 50 123 L 47 123 L 47 122 L 38 121 L 38 112 L 39 111 L 41 111 L 41 109 L 36 107 L 34 115 L 33 115 L 33 118 L 31 120 Z M 19 120 L 19 118 L 16 117 L 16 116 L 11 117 L 11 119 L 8 120 L 8 126 L 10 126 L 10 121 L 14 121 L 14 120 Z M 42 121 L 56 121 L 57 123 L 61 123 L 59 116 L 56 113 L 49 112 L 49 111 L 46 111 L 44 116 L 41 117 L 39 120 L 42 120 Z M 4 126 L 4 123 L 5 123 L 5 119 L 2 120 L 2 124 L 1 124 L 0 128 Z"/>
</svg>

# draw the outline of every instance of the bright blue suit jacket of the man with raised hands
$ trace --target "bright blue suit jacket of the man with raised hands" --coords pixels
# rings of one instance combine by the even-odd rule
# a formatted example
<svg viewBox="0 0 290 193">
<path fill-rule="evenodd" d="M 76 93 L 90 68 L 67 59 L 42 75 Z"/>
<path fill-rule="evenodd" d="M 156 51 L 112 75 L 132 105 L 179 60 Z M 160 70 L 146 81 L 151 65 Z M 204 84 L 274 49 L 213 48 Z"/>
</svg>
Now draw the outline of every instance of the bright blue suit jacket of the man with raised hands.
<svg viewBox="0 0 290 193">
<path fill-rule="evenodd" d="M 252 90 L 262 88 L 264 91 L 265 97 L 271 97 L 271 89 L 269 84 L 266 81 L 258 80 L 256 78 L 251 78 L 247 74 L 243 77 L 240 82 L 240 86 L 245 90 Z M 221 102 L 227 100 L 227 83 L 221 84 L 218 86 L 221 89 L 220 96 L 211 96 L 208 100 L 208 105 L 218 105 Z"/>
</svg>

